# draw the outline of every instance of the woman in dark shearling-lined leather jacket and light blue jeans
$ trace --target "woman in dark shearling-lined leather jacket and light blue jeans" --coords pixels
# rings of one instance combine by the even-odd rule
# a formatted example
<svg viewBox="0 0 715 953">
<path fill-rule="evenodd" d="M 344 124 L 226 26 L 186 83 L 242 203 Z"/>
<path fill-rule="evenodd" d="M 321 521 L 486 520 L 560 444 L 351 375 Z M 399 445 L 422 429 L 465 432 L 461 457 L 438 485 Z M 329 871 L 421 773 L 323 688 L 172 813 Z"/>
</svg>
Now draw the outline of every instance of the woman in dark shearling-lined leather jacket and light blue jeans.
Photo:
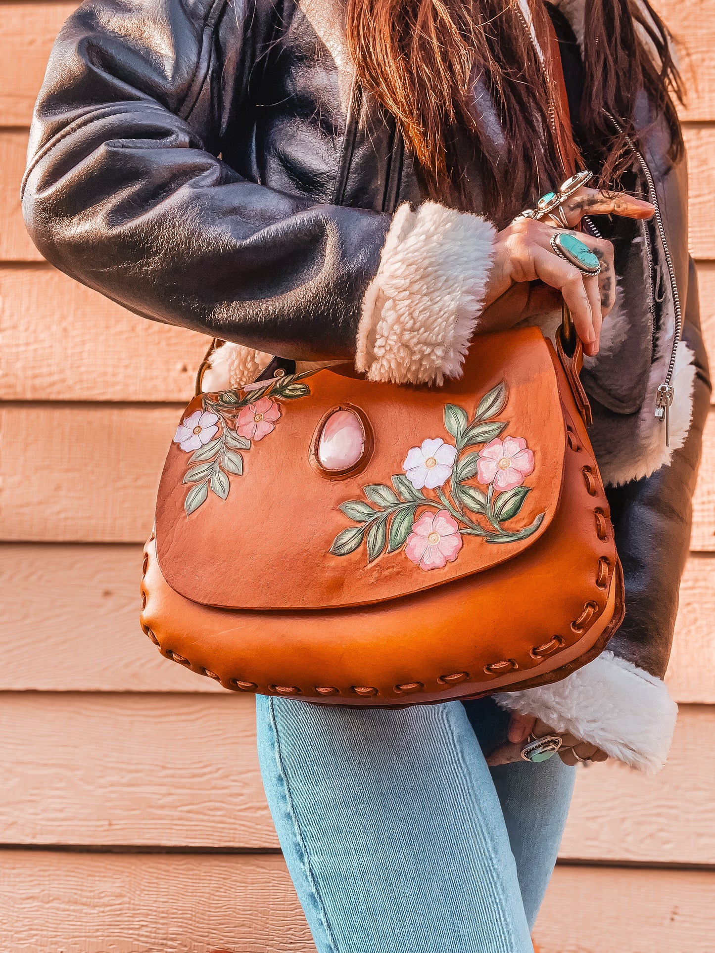
<svg viewBox="0 0 715 953">
<path fill-rule="evenodd" d="M 52 52 L 31 236 L 137 314 L 229 342 L 207 389 L 270 355 L 439 385 L 474 335 L 549 333 L 559 294 L 588 355 L 626 580 L 608 650 L 495 700 L 258 699 L 266 791 L 321 953 L 530 949 L 576 763 L 664 761 L 707 404 L 671 91 L 647 0 L 88 0 Z M 521 214 L 583 168 L 590 186 Z M 557 253 L 559 231 L 600 274 Z M 559 758 L 521 759 L 553 732 Z"/>
</svg>

